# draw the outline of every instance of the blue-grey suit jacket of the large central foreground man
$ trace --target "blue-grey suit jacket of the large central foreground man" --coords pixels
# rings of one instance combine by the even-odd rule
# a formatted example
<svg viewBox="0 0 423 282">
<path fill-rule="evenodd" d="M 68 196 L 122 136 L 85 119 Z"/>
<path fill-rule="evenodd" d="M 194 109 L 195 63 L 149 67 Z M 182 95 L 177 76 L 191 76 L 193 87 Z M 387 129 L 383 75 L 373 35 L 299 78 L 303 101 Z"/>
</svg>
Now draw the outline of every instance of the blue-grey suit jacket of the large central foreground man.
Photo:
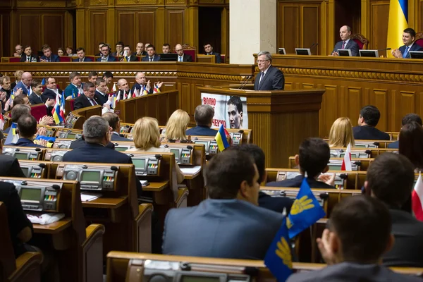
<svg viewBox="0 0 423 282">
<path fill-rule="evenodd" d="M 235 199 L 171 209 L 164 223 L 163 253 L 264 259 L 282 220 L 282 214 Z"/>
</svg>

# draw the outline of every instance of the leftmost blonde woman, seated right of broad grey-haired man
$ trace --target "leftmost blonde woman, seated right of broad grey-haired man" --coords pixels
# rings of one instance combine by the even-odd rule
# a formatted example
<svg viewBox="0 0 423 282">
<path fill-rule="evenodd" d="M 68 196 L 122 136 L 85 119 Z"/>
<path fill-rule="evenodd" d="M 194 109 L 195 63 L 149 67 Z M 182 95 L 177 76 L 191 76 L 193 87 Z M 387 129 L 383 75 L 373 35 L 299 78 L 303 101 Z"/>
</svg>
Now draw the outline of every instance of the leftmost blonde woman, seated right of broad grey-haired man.
<svg viewBox="0 0 423 282">
<path fill-rule="evenodd" d="M 170 153 L 170 148 L 160 147 L 160 130 L 156 118 L 148 116 L 140 118 L 135 122 L 132 130 L 135 148 L 128 149 L 126 152 L 160 152 Z M 176 176 L 178 183 L 182 183 L 184 176 L 178 164 L 175 161 Z"/>
</svg>

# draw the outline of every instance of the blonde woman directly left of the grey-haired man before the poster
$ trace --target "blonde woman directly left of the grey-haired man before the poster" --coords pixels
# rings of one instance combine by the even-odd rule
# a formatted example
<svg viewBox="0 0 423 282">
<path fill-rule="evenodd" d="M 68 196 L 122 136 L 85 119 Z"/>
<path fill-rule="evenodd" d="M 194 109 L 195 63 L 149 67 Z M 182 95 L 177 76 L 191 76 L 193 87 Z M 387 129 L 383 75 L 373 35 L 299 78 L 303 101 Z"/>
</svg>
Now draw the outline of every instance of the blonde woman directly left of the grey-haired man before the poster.
<svg viewBox="0 0 423 282">
<path fill-rule="evenodd" d="M 185 134 L 190 116 L 183 110 L 173 111 L 173 114 L 166 123 L 166 133 L 161 137 L 161 142 L 192 143 L 191 137 Z"/>
</svg>

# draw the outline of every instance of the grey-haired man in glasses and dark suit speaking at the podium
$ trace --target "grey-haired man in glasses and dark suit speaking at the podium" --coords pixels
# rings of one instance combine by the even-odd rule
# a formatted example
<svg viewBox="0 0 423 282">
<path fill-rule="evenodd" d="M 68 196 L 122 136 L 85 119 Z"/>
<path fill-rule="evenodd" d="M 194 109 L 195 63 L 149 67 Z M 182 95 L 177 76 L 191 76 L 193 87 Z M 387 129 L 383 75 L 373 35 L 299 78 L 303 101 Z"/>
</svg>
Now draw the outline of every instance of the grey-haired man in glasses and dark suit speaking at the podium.
<svg viewBox="0 0 423 282">
<path fill-rule="evenodd" d="M 254 90 L 283 90 L 285 78 L 281 70 L 271 66 L 271 54 L 268 51 L 260 51 L 257 54 L 257 65 L 260 72 L 255 78 Z"/>
</svg>

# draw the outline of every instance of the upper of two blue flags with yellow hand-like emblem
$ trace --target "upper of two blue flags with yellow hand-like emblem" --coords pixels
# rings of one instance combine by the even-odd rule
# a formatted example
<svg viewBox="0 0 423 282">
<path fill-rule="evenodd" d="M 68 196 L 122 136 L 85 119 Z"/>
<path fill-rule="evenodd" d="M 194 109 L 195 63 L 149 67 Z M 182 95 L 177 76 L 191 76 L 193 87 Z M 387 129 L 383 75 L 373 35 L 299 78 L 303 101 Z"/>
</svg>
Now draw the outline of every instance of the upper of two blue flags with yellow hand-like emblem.
<svg viewBox="0 0 423 282">
<path fill-rule="evenodd" d="M 312 189 L 307 182 L 307 173 L 305 173 L 304 178 L 302 178 L 300 191 L 298 191 L 297 198 L 286 220 L 289 238 L 295 237 L 325 215 L 326 213 L 312 193 Z"/>
</svg>

